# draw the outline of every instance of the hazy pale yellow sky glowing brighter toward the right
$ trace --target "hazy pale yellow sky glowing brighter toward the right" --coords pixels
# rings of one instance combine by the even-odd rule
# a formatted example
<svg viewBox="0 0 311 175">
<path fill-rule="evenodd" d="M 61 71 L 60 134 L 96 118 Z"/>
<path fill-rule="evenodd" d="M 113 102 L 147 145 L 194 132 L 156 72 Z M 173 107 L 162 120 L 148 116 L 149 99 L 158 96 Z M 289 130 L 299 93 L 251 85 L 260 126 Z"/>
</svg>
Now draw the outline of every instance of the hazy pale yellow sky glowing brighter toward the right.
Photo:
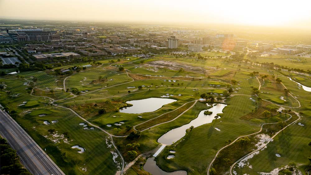
<svg viewBox="0 0 311 175">
<path fill-rule="evenodd" d="M 0 0 L 1 18 L 297 25 L 311 0 Z"/>
</svg>

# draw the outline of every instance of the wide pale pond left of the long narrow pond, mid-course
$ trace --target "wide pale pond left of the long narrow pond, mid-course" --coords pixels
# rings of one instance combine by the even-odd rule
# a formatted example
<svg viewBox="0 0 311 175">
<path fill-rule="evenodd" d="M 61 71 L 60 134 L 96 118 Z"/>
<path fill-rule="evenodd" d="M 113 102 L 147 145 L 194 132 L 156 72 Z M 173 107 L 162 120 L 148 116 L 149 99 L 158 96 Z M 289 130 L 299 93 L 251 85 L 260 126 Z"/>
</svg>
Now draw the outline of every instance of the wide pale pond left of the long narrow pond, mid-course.
<svg viewBox="0 0 311 175">
<path fill-rule="evenodd" d="M 121 108 L 121 113 L 129 114 L 140 114 L 149 113 L 160 109 L 163 105 L 173 103 L 177 100 L 174 99 L 161 99 L 161 98 L 149 98 L 142 100 L 132 100 L 126 103 L 132 104 L 133 106 Z"/>
</svg>

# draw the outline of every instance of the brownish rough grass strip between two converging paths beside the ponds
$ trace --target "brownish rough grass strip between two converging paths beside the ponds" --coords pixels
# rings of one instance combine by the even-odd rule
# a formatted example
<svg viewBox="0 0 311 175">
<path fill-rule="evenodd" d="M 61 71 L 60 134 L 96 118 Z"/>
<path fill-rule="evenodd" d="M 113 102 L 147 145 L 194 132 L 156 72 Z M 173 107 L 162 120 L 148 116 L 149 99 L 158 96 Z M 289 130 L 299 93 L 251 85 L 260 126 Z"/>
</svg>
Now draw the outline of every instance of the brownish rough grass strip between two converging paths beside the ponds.
<svg viewBox="0 0 311 175">
<path fill-rule="evenodd" d="M 143 129 L 146 129 L 148 127 L 151 127 L 153 125 L 156 125 L 156 124 L 159 124 L 159 123 L 162 123 L 162 122 L 167 122 L 167 121 L 170 121 L 172 120 L 173 118 L 177 117 L 179 114 L 181 114 L 183 111 L 187 110 L 188 108 L 190 108 L 191 105 L 193 105 L 194 102 L 190 102 L 190 103 L 187 103 L 185 104 L 184 106 L 170 112 L 170 113 L 166 113 L 164 115 L 161 115 L 160 117 L 157 117 L 155 119 L 152 119 L 148 122 L 145 122 L 141 125 L 138 125 L 136 127 L 137 130 L 143 130 Z"/>
</svg>

